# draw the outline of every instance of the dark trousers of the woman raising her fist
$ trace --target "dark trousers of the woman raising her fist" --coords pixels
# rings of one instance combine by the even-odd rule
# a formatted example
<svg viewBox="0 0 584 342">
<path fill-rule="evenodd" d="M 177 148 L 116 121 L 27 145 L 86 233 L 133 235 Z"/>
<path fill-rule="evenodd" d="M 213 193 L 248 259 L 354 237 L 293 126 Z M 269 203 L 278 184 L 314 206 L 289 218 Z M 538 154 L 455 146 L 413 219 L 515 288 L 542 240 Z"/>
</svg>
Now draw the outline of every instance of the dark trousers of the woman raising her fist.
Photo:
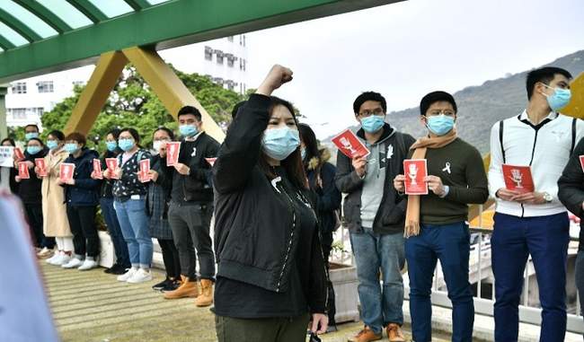
<svg viewBox="0 0 584 342">
<path fill-rule="evenodd" d="M 273 319 L 215 316 L 219 342 L 304 342 L 310 315 Z"/>
</svg>

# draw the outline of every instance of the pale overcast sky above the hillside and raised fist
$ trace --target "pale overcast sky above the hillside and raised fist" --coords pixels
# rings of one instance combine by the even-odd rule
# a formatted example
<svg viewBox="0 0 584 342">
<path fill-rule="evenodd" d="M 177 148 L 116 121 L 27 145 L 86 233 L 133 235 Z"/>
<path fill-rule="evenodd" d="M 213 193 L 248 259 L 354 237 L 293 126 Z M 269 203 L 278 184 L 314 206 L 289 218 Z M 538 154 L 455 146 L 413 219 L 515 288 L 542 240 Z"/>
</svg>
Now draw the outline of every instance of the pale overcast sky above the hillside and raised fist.
<svg viewBox="0 0 584 342">
<path fill-rule="evenodd" d="M 294 81 L 276 94 L 324 138 L 355 123 L 360 92 L 382 92 L 388 111 L 403 110 L 427 92 L 456 92 L 584 49 L 583 14 L 583 0 L 409 0 L 255 31 L 247 34 L 248 87 L 274 63 L 292 68 Z"/>
</svg>

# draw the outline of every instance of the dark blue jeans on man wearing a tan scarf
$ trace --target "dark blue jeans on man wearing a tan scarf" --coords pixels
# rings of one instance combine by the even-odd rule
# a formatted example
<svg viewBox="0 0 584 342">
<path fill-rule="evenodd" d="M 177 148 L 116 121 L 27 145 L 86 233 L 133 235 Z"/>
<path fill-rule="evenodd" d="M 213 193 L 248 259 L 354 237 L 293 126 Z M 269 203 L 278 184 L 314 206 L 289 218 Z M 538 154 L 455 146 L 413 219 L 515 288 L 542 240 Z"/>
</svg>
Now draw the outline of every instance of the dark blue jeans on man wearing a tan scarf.
<svg viewBox="0 0 584 342">
<path fill-rule="evenodd" d="M 448 298 L 452 302 L 452 341 L 473 340 L 473 291 L 468 283 L 470 232 L 464 222 L 422 224 L 420 235 L 405 241 L 410 276 L 411 332 L 416 342 L 432 339 L 430 294 L 437 260 L 440 260 Z"/>
</svg>

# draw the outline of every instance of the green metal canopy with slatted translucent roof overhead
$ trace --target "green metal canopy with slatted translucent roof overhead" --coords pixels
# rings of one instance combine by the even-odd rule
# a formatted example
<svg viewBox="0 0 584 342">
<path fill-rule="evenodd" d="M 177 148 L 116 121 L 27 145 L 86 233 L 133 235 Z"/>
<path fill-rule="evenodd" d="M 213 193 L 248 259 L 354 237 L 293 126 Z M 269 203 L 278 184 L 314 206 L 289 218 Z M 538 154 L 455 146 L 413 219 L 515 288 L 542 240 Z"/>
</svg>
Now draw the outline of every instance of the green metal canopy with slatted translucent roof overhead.
<svg viewBox="0 0 584 342">
<path fill-rule="evenodd" d="M 0 0 L 0 83 L 398 1 Z"/>
</svg>

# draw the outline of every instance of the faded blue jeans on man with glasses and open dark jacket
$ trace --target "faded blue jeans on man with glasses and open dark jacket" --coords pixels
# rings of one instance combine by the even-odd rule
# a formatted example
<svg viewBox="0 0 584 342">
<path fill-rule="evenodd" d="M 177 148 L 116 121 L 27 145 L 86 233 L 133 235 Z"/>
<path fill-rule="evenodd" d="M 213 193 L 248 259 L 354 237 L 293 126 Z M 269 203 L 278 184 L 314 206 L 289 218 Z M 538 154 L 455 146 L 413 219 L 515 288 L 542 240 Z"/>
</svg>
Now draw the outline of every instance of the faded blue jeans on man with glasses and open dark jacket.
<svg viewBox="0 0 584 342">
<path fill-rule="evenodd" d="M 351 232 L 355 255 L 361 319 L 380 334 L 389 323 L 403 324 L 403 233 L 377 234 L 371 228 Z M 379 285 L 379 272 L 383 289 Z"/>
</svg>

